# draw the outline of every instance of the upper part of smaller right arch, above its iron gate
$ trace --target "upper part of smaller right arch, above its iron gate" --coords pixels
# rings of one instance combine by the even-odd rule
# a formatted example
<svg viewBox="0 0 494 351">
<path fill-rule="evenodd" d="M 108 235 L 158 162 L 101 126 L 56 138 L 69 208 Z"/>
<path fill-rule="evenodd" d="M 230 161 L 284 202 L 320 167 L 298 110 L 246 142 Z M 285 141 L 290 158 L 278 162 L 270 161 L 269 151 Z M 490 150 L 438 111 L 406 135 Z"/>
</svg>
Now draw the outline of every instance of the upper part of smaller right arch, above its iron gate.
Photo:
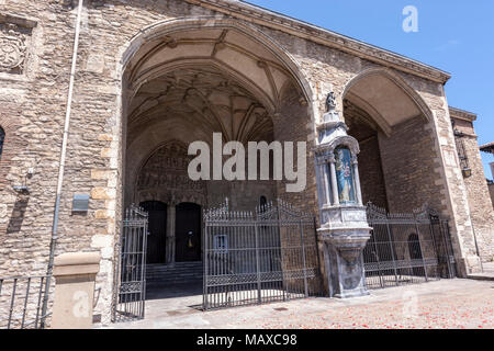
<svg viewBox="0 0 494 351">
<path fill-rule="evenodd" d="M 361 150 L 363 203 L 400 213 L 424 203 L 440 206 L 430 111 L 397 73 L 370 69 L 353 78 L 345 90 L 344 116 Z"/>
</svg>

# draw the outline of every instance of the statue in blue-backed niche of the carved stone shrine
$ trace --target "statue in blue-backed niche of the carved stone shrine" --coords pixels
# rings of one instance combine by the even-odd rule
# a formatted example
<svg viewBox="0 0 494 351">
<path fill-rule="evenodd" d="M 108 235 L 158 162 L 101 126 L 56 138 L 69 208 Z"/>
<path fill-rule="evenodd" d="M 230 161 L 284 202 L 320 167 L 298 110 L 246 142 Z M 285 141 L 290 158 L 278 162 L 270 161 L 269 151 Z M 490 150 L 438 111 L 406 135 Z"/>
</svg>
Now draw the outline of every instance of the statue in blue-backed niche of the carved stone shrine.
<svg viewBox="0 0 494 351">
<path fill-rule="evenodd" d="M 347 148 L 339 148 L 336 149 L 335 154 L 339 203 L 355 203 L 353 172 L 351 169 L 350 150 Z"/>
</svg>

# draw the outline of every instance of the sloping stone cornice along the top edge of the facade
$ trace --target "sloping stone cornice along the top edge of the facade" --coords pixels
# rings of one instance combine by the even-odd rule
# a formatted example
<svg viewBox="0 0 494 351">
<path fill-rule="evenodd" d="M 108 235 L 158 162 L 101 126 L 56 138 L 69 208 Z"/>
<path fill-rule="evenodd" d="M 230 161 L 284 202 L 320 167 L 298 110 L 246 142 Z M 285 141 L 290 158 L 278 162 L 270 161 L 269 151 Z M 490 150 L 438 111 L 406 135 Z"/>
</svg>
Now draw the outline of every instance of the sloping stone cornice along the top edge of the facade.
<svg viewBox="0 0 494 351">
<path fill-rule="evenodd" d="M 260 7 L 235 0 L 186 0 L 189 3 L 225 13 L 247 22 L 279 30 L 317 44 L 346 52 L 370 61 L 392 67 L 428 80 L 446 83 L 451 76 L 438 68 L 425 65 L 396 53 L 373 46 L 316 25 L 279 14 Z"/>
</svg>

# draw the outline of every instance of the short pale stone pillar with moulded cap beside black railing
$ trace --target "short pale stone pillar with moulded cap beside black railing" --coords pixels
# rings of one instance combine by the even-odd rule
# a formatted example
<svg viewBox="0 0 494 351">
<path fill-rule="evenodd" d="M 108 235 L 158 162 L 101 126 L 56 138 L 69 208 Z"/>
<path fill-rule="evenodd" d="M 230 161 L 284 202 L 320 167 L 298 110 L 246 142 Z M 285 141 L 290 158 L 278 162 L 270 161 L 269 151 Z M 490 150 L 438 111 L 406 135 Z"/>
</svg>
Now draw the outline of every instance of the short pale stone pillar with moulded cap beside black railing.
<svg viewBox="0 0 494 351">
<path fill-rule="evenodd" d="M 94 282 L 100 270 L 97 252 L 63 253 L 55 258 L 52 329 L 92 327 Z"/>
</svg>

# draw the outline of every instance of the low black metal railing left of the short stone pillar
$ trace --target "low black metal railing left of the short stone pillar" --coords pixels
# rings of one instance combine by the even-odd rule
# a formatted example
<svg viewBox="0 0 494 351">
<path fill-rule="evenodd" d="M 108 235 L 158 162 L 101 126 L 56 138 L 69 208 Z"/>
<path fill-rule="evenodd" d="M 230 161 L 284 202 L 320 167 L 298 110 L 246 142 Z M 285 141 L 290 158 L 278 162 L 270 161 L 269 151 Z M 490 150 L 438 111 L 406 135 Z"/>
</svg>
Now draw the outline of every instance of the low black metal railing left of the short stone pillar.
<svg viewBox="0 0 494 351">
<path fill-rule="evenodd" d="M 0 278 L 0 329 L 43 329 L 50 322 L 50 288 L 47 276 Z M 42 313 L 43 301 L 48 309 Z"/>
</svg>

